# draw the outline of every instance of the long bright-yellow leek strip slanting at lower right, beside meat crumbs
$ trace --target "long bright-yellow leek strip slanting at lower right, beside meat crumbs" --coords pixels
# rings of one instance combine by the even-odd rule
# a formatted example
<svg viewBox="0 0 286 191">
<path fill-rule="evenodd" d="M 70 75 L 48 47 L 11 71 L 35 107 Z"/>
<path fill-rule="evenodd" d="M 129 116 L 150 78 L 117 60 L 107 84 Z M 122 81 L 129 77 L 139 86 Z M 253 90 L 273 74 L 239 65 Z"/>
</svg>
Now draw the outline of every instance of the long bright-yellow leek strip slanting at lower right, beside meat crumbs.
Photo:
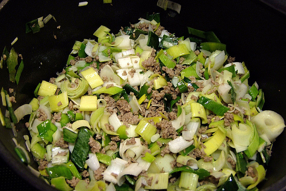
<svg viewBox="0 0 286 191">
<path fill-rule="evenodd" d="M 220 129 L 217 129 L 215 135 L 212 136 L 208 141 L 204 142 L 204 145 L 206 146 L 204 149 L 206 155 L 210 155 L 215 152 L 225 139 L 226 131 L 223 132 Z"/>
</svg>

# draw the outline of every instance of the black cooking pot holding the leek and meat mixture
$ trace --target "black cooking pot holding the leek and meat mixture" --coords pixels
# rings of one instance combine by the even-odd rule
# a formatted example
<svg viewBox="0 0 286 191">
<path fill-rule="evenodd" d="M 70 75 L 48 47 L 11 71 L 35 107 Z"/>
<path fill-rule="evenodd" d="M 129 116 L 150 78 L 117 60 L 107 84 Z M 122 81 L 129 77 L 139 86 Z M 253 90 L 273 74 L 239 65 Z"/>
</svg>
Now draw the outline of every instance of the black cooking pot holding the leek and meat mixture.
<svg viewBox="0 0 286 191">
<path fill-rule="evenodd" d="M 147 12 L 161 13 L 161 25 L 176 36 L 188 36 L 186 26 L 200 30 L 213 30 L 220 40 L 227 44 L 230 56 L 236 61 L 245 61 L 250 70 L 249 84 L 257 81 L 265 94 L 264 110 L 273 110 L 286 119 L 286 75 L 285 44 L 286 17 L 260 1 L 228 0 L 224 2 L 176 1 L 181 3 L 181 12 L 175 17 L 170 12 L 156 6 L 153 1 L 119 1 L 103 4 L 102 0 L 89 1 L 87 6 L 78 7 L 80 1 L 2 1 L 0 5 L 0 50 L 17 36 L 13 45 L 24 58 L 24 70 L 18 86 L 9 82 L 6 66 L 0 70 L 0 88 L 14 88 L 16 104 L 13 108 L 29 103 L 33 91 L 42 80 L 49 81 L 61 72 L 75 40 L 95 37 L 92 35 L 105 25 L 117 33 L 121 26 L 136 23 Z M 3 7 L 4 6 L 4 7 Z M 277 7 L 276 7 L 277 8 Z M 281 10 L 281 7 L 277 9 Z M 284 10 L 285 12 L 285 10 Z M 41 16 L 52 14 L 41 31 L 25 34 L 25 23 Z M 173 13 L 172 13 L 173 14 Z M 61 26 L 57 29 L 57 26 Z M 54 38 L 54 35 L 57 38 Z M 1 105 L 2 113 L 4 107 Z M 25 117 L 19 124 L 18 143 L 24 145 L 23 135 L 29 134 L 24 126 Z M 55 190 L 42 179 L 37 178 L 27 166 L 21 163 L 14 152 L 11 140 L 13 133 L 0 125 L 1 157 L 19 175 L 39 190 Z M 285 190 L 286 185 L 286 132 L 284 131 L 273 146 L 273 154 L 266 174 L 266 181 L 259 184 L 262 190 Z M 24 146 L 25 147 L 25 146 Z M 31 155 L 32 158 L 32 155 Z M 31 166 L 37 169 L 34 161 Z M 15 183 L 16 184 L 16 183 Z"/>
</svg>

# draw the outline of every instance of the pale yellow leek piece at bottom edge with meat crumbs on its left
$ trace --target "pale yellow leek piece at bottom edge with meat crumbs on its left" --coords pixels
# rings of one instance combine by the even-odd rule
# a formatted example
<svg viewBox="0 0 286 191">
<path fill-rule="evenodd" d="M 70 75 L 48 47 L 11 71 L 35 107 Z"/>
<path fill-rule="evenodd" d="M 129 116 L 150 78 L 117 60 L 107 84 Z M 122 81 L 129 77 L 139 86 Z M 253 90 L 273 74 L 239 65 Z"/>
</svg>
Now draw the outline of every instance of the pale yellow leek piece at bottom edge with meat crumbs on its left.
<svg viewBox="0 0 286 191">
<path fill-rule="evenodd" d="M 145 186 L 145 189 L 161 190 L 167 189 L 169 173 L 148 173 L 148 179 L 152 177 L 151 185 Z"/>
</svg>

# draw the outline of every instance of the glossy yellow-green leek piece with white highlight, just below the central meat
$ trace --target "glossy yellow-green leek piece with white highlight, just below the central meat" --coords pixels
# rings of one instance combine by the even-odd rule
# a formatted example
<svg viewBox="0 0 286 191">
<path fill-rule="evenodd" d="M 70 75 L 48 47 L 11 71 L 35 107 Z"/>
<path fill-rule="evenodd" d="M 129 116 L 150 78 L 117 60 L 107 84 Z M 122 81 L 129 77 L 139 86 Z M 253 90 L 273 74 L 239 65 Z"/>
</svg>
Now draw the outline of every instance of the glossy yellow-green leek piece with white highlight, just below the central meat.
<svg viewBox="0 0 286 191">
<path fill-rule="evenodd" d="M 157 132 L 157 128 L 147 121 L 141 120 L 137 125 L 135 132 L 142 136 L 142 138 L 151 143 L 151 137 Z"/>
</svg>

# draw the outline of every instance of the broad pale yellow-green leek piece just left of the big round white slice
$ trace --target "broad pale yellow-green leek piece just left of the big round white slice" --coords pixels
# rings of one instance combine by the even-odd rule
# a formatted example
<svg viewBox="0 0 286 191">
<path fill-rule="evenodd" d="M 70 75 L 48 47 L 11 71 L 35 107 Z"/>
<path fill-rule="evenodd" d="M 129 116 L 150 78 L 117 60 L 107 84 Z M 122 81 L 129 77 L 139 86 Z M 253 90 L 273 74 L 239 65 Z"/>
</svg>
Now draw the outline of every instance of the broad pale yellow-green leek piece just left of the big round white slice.
<svg viewBox="0 0 286 191">
<path fill-rule="evenodd" d="M 233 124 L 231 125 L 231 135 L 234 144 L 248 146 L 254 137 L 254 129 L 246 124 L 239 124 L 239 128 Z"/>
</svg>

